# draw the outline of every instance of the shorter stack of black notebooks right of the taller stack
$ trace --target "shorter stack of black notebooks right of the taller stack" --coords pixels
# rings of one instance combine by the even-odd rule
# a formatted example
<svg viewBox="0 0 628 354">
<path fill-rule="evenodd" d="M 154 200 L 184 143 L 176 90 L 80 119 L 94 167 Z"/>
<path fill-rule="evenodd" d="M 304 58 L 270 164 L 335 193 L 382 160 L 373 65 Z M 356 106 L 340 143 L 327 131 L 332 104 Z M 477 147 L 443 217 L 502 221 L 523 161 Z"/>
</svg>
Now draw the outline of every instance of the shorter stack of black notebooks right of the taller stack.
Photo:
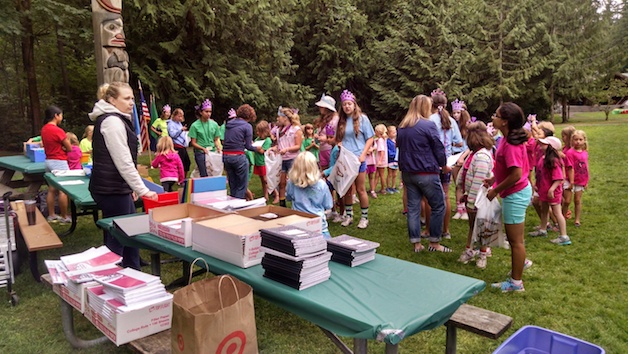
<svg viewBox="0 0 628 354">
<path fill-rule="evenodd" d="M 327 249 L 332 252 L 331 260 L 350 267 L 375 259 L 377 247 L 379 247 L 377 242 L 349 235 L 340 235 L 327 240 Z"/>
</svg>

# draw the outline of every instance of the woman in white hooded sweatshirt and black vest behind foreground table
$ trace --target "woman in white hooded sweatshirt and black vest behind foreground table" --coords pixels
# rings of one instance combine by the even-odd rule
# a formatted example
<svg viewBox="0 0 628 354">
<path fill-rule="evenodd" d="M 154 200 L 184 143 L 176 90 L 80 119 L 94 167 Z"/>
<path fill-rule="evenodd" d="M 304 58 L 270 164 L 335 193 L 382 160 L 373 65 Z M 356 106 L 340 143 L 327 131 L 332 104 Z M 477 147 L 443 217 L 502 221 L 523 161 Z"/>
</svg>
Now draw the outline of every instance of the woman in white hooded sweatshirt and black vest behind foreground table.
<svg viewBox="0 0 628 354">
<path fill-rule="evenodd" d="M 103 217 L 108 218 L 134 214 L 138 196 L 157 200 L 157 194 L 144 185 L 137 172 L 138 139 L 131 121 L 133 90 L 126 83 L 114 82 L 104 92 L 89 114 L 94 122 L 89 191 Z M 106 231 L 104 243 L 122 256 L 123 267 L 140 269 L 139 249 L 123 246 Z"/>
</svg>

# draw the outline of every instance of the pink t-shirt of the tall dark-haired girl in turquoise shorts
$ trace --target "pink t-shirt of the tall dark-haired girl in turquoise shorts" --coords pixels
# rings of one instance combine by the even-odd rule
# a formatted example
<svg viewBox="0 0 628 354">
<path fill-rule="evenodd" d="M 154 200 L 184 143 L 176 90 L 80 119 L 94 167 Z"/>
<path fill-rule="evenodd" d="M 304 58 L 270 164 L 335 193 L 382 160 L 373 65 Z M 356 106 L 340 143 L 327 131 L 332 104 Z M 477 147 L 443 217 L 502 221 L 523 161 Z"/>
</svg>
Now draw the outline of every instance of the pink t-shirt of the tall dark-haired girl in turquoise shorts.
<svg viewBox="0 0 628 354">
<path fill-rule="evenodd" d="M 526 144 L 511 145 L 502 138 L 497 152 L 495 152 L 495 166 L 493 173 L 495 175 L 495 185 L 502 183 L 509 175 L 508 169 L 511 167 L 521 168 L 521 178 L 512 186 L 499 192 L 499 196 L 504 198 L 513 193 L 519 192 L 528 186 L 528 175 L 530 168 L 528 167 L 528 154 L 526 152 Z"/>
</svg>

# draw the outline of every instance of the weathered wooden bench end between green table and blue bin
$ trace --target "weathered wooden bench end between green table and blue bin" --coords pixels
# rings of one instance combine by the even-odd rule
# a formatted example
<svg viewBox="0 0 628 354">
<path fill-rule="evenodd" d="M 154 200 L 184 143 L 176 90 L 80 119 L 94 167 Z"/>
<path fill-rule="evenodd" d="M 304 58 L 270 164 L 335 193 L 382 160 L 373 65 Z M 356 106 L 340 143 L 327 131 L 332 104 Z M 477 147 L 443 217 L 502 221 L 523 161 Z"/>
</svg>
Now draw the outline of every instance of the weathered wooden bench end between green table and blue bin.
<svg viewBox="0 0 628 354">
<path fill-rule="evenodd" d="M 458 328 L 483 337 L 497 339 L 512 326 L 512 317 L 472 305 L 462 304 L 449 321 L 445 323 L 445 326 L 447 326 L 445 353 L 455 354 L 456 330 Z"/>
</svg>

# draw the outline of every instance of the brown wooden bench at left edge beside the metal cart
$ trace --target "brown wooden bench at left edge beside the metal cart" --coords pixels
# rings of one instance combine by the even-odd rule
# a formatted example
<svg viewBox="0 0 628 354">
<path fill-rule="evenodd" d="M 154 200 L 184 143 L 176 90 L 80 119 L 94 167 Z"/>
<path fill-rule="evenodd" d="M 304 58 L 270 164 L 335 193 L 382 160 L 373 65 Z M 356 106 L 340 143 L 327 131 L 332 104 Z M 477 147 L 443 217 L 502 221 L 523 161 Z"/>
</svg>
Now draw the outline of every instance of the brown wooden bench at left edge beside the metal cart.
<svg viewBox="0 0 628 354">
<path fill-rule="evenodd" d="M 59 236 L 50 227 L 44 215 L 35 210 L 36 222 L 35 225 L 28 224 L 28 218 L 26 217 L 26 209 L 24 203 L 11 202 L 11 208 L 17 214 L 17 222 L 20 227 L 20 234 L 24 240 L 24 244 L 29 254 L 29 265 L 31 273 L 36 281 L 41 281 L 39 273 L 39 265 L 37 262 L 37 252 L 43 250 L 49 250 L 53 248 L 63 247 L 63 242 L 59 239 Z M 20 246 L 20 242 L 17 246 Z"/>
</svg>

